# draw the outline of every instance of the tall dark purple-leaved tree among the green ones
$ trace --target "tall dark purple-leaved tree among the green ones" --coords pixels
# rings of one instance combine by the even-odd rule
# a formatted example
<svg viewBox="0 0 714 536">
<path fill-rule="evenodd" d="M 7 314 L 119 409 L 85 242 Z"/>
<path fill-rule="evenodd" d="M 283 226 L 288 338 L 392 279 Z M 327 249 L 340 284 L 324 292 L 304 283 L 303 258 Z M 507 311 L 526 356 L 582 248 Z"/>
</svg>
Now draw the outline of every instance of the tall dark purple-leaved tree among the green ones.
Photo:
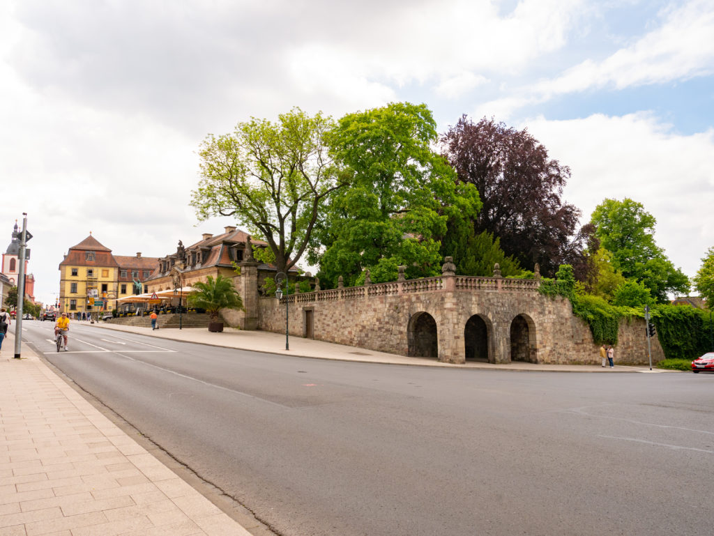
<svg viewBox="0 0 714 536">
<path fill-rule="evenodd" d="M 476 186 L 481 196 L 476 235 L 492 233 L 506 255 L 528 270 L 539 263 L 544 275 L 578 262 L 583 237 L 573 243 L 573 236 L 580 211 L 561 198 L 570 168 L 549 158 L 527 129 L 462 116 L 441 143 L 458 180 Z"/>
</svg>

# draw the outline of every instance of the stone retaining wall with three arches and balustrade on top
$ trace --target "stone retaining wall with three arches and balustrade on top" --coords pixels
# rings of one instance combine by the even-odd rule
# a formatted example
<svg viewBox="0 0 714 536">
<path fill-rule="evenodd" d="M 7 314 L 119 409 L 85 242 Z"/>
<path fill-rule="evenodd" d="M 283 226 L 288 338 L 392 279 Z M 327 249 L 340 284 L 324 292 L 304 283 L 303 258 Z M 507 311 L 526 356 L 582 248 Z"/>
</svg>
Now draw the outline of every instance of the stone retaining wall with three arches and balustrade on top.
<svg viewBox="0 0 714 536">
<path fill-rule="evenodd" d="M 281 303 L 276 298 L 260 298 L 258 329 L 284 332 L 285 302 L 286 298 Z M 410 350 L 410 325 L 419 313 L 428 313 L 436 321 L 437 357 L 444 362 L 464 362 L 466 323 L 478 315 L 478 322 L 486 325 L 491 363 L 511 362 L 516 317 L 520 317 L 517 327 L 528 326 L 525 333 L 513 332 L 528 346 L 527 360 L 600 363 L 588 325 L 573 315 L 569 300 L 538 293 L 537 280 L 444 275 L 288 297 L 291 335 L 306 336 L 312 321 L 316 339 L 400 355 L 414 351 Z M 664 358 L 656 338 L 652 339 L 652 355 L 653 363 Z M 620 323 L 615 362 L 648 362 L 644 320 Z"/>
</svg>

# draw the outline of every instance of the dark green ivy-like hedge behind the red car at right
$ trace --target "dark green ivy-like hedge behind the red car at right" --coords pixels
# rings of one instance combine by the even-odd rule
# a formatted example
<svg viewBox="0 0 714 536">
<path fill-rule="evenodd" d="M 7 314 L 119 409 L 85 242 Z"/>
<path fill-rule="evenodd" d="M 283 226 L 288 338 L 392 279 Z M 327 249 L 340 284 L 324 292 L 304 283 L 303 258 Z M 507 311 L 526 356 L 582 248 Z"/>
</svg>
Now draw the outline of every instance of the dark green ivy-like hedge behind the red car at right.
<svg viewBox="0 0 714 536">
<path fill-rule="evenodd" d="M 666 358 L 692 360 L 714 350 L 708 311 L 689 305 L 658 305 L 650 314 Z"/>
</svg>

